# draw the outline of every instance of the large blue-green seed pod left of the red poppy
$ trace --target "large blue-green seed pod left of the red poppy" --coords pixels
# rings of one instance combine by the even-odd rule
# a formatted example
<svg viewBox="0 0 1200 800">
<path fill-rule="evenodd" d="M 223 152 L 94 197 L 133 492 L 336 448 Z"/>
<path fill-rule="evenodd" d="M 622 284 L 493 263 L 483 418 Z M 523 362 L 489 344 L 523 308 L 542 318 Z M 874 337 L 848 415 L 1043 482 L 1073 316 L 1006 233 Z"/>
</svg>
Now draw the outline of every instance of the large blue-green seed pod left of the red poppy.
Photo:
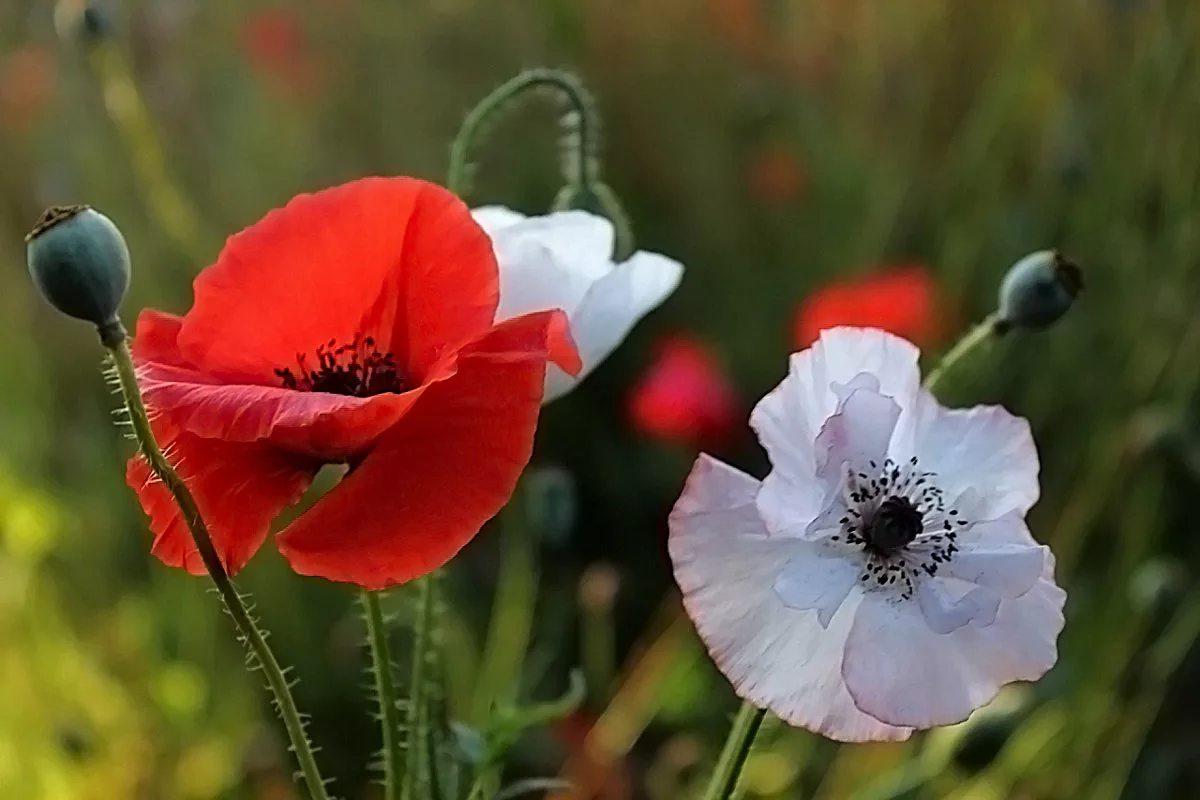
<svg viewBox="0 0 1200 800">
<path fill-rule="evenodd" d="M 130 251 L 112 219 L 86 205 L 47 209 L 25 236 L 25 259 L 52 306 L 102 330 L 119 326 Z"/>
</svg>

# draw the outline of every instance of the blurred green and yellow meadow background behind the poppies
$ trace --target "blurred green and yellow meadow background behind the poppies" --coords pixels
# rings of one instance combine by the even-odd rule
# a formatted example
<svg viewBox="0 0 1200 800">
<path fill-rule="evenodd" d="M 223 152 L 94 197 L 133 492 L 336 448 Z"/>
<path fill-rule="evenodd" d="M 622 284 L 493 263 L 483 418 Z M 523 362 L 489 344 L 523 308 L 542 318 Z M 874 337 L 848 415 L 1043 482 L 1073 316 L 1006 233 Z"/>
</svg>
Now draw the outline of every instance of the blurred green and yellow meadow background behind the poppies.
<svg viewBox="0 0 1200 800">
<path fill-rule="evenodd" d="M 502 694 L 546 699 L 582 663 L 586 711 L 522 739 L 510 777 L 695 796 L 734 698 L 671 590 L 666 513 L 695 450 L 625 413 L 656 337 L 712 345 L 748 411 L 784 373 L 797 303 L 828 281 L 925 264 L 948 339 L 994 308 L 1009 264 L 1060 246 L 1085 270 L 1076 307 L 1006 337 L 947 392 L 1032 422 L 1031 525 L 1069 591 L 1060 663 L 904 745 L 770 728 L 745 789 L 1194 796 L 1200 4 L 125 0 L 88 18 L 82 5 L 0 2 L 0 798 L 300 796 L 206 582 L 149 554 L 94 332 L 31 289 L 22 240 L 42 207 L 89 203 L 121 227 L 126 321 L 182 312 L 226 235 L 301 191 L 442 179 L 470 106 L 540 65 L 595 92 L 605 175 L 638 245 L 688 272 L 544 416 L 535 463 L 571 476 L 571 524 L 551 536 L 522 517 L 508 545 L 487 529 L 448 571 L 454 716 L 480 723 L 480 686 L 505 670 L 521 680 Z M 491 131 L 473 204 L 548 207 L 559 113 L 535 98 Z M 724 455 L 767 467 L 750 443 Z M 336 793 L 379 796 L 353 593 L 289 573 L 269 546 L 239 582 L 295 667 Z M 496 649 L 514 663 L 485 674 L 498 583 Z M 389 597 L 402 663 L 409 600 Z"/>
</svg>

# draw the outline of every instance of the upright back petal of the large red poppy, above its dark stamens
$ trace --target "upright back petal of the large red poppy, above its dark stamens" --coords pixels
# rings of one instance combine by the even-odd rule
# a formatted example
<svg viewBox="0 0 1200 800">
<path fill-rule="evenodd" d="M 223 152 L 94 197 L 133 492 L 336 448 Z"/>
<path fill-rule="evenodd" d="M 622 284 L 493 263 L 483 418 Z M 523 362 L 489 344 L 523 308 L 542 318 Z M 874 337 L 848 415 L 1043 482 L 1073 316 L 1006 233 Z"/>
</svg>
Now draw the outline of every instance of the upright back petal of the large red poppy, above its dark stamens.
<svg viewBox="0 0 1200 800">
<path fill-rule="evenodd" d="M 230 237 L 196 279 L 179 345 L 203 372 L 248 383 L 359 333 L 424 369 L 491 326 L 497 287 L 491 242 L 458 198 L 368 178 L 301 194 Z"/>
</svg>

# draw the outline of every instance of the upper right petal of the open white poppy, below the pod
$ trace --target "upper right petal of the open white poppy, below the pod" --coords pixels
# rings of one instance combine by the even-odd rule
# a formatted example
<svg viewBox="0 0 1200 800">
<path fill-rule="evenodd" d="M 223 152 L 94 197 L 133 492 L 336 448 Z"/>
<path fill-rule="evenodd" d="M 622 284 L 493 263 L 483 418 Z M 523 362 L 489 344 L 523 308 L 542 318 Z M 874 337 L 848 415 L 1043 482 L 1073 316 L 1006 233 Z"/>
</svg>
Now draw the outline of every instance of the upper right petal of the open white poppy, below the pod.
<svg viewBox="0 0 1200 800">
<path fill-rule="evenodd" d="M 1038 451 L 1030 423 L 998 405 L 948 409 L 922 390 L 916 414 L 898 427 L 893 455 L 898 452 L 917 456 L 923 470 L 937 473 L 947 497 L 977 489 L 976 519 L 1024 515 L 1038 500 Z"/>
</svg>

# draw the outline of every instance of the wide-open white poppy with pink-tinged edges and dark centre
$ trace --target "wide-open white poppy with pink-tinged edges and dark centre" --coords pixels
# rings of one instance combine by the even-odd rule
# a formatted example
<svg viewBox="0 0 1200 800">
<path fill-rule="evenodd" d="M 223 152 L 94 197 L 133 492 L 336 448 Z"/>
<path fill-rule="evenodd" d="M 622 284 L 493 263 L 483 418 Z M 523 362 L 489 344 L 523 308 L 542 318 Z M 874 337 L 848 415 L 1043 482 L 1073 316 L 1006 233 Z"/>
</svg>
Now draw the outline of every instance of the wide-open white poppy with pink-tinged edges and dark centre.
<svg viewBox="0 0 1200 800">
<path fill-rule="evenodd" d="M 767 479 L 701 456 L 671 515 L 684 606 L 737 693 L 841 741 L 960 722 L 1057 658 L 1028 425 L 943 408 L 917 356 L 826 331 L 750 417 Z"/>
</svg>

